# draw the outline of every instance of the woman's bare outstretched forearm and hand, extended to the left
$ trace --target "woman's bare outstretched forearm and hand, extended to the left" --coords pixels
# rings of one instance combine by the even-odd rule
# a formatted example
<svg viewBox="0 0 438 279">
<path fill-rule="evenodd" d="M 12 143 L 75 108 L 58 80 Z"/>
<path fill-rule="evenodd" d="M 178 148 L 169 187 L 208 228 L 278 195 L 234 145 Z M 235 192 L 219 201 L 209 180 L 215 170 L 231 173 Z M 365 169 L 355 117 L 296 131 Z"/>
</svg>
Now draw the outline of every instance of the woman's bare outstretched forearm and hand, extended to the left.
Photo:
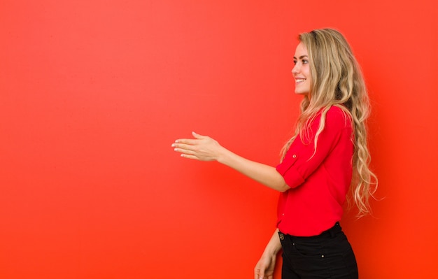
<svg viewBox="0 0 438 279">
<path fill-rule="evenodd" d="M 285 192 L 290 189 L 283 176 L 273 166 L 253 162 L 236 155 L 209 136 L 202 136 L 195 132 L 192 135 L 194 139 L 178 139 L 172 144 L 176 152 L 181 152 L 181 157 L 200 161 L 218 161 L 277 191 Z"/>
</svg>

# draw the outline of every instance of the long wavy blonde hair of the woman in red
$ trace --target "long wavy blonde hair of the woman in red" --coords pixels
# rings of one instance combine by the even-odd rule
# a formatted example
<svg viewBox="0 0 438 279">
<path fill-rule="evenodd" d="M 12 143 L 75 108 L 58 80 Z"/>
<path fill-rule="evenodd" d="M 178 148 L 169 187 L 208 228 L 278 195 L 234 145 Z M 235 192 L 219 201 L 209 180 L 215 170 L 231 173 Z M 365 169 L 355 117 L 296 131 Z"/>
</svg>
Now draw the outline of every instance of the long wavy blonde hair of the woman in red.
<svg viewBox="0 0 438 279">
<path fill-rule="evenodd" d="M 337 106 L 353 120 L 352 141 L 353 180 L 350 191 L 358 217 L 371 213 L 369 198 L 377 189 L 377 177 L 369 169 L 370 155 L 367 148 L 367 127 L 370 106 L 362 71 L 348 42 L 339 31 L 316 29 L 299 34 L 298 39 L 307 48 L 311 73 L 311 90 L 301 103 L 301 114 L 297 120 L 295 136 L 282 149 L 282 160 L 290 144 L 299 135 L 301 140 L 308 136 L 309 126 L 319 111 L 321 120 L 316 131 L 314 148 L 318 136 L 325 127 L 325 117 L 331 106 Z"/>
</svg>

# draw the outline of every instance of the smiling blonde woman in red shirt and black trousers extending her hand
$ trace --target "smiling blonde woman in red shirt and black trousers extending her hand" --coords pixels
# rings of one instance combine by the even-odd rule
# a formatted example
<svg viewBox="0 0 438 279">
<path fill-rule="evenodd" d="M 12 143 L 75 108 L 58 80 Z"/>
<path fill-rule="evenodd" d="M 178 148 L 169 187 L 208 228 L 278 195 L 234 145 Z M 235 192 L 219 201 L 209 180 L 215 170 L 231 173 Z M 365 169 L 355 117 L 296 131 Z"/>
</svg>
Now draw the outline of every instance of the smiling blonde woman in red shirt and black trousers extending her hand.
<svg viewBox="0 0 438 279">
<path fill-rule="evenodd" d="M 240 157 L 196 133 L 172 146 L 181 157 L 216 160 L 281 192 L 277 229 L 255 266 L 255 279 L 272 278 L 281 249 L 283 279 L 358 278 L 339 220 L 349 190 L 365 215 L 376 189 L 368 168 L 365 83 L 350 46 L 334 29 L 300 34 L 294 64 L 295 93 L 304 99 L 278 166 Z"/>
</svg>

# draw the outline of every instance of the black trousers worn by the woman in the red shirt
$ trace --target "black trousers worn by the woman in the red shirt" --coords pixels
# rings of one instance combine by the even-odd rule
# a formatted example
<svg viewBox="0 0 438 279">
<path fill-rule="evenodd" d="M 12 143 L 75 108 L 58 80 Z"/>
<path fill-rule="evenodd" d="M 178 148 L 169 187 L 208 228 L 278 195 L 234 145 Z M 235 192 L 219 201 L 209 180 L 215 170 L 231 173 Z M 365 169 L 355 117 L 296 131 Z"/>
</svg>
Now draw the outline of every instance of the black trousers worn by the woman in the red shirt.
<svg viewBox="0 0 438 279">
<path fill-rule="evenodd" d="M 357 279 L 358 265 L 339 222 L 318 236 L 278 233 L 283 247 L 282 279 Z"/>
</svg>

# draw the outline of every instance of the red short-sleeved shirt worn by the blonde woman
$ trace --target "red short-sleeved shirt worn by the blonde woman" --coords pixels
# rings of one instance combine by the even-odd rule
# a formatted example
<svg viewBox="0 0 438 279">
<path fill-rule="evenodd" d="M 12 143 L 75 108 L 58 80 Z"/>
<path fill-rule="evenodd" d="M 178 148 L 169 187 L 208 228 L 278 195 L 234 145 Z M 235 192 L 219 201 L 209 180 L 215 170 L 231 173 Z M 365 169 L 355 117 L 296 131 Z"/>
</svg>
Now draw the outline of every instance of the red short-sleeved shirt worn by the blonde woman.
<svg viewBox="0 0 438 279">
<path fill-rule="evenodd" d="M 297 136 L 283 162 L 276 166 L 290 187 L 278 201 L 277 226 L 284 234 L 316 236 L 341 220 L 353 170 L 351 118 L 332 106 L 315 152 L 320 118 L 319 113 L 311 123 L 309 140 L 304 137 L 303 143 Z"/>
</svg>

